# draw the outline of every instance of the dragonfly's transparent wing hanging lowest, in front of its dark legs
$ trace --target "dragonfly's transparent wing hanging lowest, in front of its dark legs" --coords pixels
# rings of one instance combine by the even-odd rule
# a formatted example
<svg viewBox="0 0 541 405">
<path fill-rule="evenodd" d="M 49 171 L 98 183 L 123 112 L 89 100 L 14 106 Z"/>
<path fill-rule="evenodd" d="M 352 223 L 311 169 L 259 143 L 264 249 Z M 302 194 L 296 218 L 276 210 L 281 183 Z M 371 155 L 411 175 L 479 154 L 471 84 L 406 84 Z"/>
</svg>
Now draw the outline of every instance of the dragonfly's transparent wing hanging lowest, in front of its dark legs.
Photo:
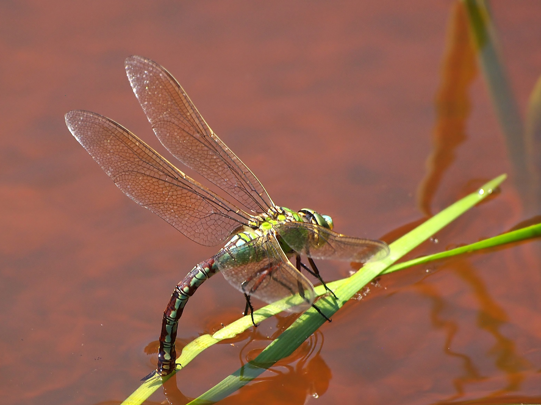
<svg viewBox="0 0 541 405">
<path fill-rule="evenodd" d="M 237 290 L 267 303 L 290 298 L 301 312 L 314 302 L 314 286 L 289 262 L 272 232 L 214 257 L 226 280 Z"/>
</svg>

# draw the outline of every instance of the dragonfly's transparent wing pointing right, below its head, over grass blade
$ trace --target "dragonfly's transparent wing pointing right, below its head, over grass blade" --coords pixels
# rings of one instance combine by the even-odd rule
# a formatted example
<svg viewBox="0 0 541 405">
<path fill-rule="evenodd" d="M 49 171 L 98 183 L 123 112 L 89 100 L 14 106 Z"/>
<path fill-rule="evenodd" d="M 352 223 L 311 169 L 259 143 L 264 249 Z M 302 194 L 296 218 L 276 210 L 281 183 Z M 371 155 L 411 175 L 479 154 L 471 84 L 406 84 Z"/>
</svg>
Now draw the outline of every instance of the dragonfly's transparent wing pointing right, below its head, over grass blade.
<svg viewBox="0 0 541 405">
<path fill-rule="evenodd" d="M 365 263 L 389 254 L 385 242 L 337 234 L 312 223 L 285 222 L 274 225 L 274 229 L 297 253 L 315 259 Z"/>
</svg>

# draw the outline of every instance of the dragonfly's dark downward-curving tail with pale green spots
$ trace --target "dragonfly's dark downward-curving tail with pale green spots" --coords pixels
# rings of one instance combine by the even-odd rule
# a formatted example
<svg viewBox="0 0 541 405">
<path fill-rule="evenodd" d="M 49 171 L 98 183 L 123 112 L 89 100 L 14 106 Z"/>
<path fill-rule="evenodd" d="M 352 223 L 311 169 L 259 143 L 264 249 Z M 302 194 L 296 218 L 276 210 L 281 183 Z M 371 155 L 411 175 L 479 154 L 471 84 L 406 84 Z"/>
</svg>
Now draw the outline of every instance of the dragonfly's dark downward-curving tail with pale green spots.
<svg viewBox="0 0 541 405">
<path fill-rule="evenodd" d="M 179 319 L 182 316 L 184 306 L 195 290 L 201 284 L 218 272 L 214 264 L 214 258 L 197 264 L 184 277 L 173 291 L 171 299 L 163 311 L 162 330 L 160 334 L 160 351 L 158 353 L 158 366 L 156 373 L 159 375 L 171 374 L 176 368 L 175 340 Z"/>
</svg>

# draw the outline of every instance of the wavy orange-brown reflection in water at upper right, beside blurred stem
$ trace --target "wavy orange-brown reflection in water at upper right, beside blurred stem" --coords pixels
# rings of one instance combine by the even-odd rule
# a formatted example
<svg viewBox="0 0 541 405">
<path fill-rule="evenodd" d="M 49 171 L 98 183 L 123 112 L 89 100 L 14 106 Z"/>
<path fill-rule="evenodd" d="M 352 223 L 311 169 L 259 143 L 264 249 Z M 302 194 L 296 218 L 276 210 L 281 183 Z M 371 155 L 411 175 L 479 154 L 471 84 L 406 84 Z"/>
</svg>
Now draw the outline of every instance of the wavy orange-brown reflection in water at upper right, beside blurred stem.
<svg viewBox="0 0 541 405">
<path fill-rule="evenodd" d="M 441 177 L 454 161 L 454 150 L 466 140 L 466 120 L 470 115 L 468 90 L 476 76 L 476 55 L 470 39 L 466 12 L 463 4 L 456 2 L 447 34 L 441 85 L 436 96 L 434 150 L 428 156 L 427 173 L 417 189 L 419 209 L 427 216 L 431 215 L 430 205 Z"/>
</svg>

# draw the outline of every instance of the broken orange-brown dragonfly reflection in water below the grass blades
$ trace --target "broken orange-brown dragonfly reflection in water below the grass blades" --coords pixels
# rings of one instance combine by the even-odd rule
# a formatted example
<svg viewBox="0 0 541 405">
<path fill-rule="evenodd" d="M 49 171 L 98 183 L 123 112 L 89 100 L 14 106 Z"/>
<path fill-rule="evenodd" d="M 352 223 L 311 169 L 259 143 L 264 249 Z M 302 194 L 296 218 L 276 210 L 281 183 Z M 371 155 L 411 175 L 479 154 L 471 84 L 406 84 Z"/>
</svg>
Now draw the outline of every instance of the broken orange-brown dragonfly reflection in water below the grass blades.
<svg viewBox="0 0 541 405">
<path fill-rule="evenodd" d="M 291 320 L 285 321 L 289 323 Z M 258 338 L 260 340 L 261 335 L 258 335 Z M 272 341 L 274 338 L 275 336 L 271 336 L 266 340 Z M 250 338 L 241 350 L 242 366 L 262 351 L 249 349 L 250 343 L 254 341 L 254 338 Z M 316 331 L 291 356 L 283 358 L 268 369 L 268 372 L 274 375 L 255 379 L 255 383 L 241 388 L 220 403 L 304 404 L 309 396 L 320 397 L 327 391 L 332 377 L 331 369 L 320 355 L 323 343 L 323 334 Z M 163 384 L 163 393 L 171 405 L 184 405 L 193 400 L 177 388 L 176 374 Z"/>
</svg>

